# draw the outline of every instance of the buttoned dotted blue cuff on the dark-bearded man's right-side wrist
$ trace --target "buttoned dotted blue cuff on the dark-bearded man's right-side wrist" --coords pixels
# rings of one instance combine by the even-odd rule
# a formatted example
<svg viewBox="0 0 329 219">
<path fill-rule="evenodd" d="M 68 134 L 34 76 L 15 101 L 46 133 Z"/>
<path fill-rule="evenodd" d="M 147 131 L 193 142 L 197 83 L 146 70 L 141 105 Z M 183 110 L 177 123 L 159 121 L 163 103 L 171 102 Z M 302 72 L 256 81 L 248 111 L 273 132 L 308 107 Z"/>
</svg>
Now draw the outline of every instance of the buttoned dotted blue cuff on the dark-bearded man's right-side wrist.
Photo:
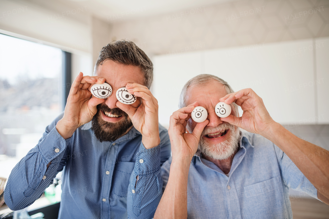
<svg viewBox="0 0 329 219">
<path fill-rule="evenodd" d="M 160 145 L 161 143 L 156 147 L 146 149 L 143 143 L 140 143 L 134 167 L 136 176 L 153 174 L 160 170 Z"/>
</svg>

